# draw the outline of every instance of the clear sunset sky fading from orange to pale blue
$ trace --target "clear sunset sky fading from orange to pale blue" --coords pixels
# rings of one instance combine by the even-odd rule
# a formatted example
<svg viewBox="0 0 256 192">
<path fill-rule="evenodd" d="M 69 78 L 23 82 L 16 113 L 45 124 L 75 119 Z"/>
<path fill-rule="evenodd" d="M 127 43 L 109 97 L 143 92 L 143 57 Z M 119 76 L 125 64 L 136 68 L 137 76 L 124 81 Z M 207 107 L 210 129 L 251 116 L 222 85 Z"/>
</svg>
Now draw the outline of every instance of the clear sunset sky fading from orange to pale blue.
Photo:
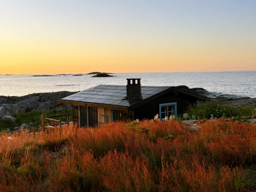
<svg viewBox="0 0 256 192">
<path fill-rule="evenodd" d="M 255 0 L 0 1 L 0 74 L 242 70 Z"/>
</svg>

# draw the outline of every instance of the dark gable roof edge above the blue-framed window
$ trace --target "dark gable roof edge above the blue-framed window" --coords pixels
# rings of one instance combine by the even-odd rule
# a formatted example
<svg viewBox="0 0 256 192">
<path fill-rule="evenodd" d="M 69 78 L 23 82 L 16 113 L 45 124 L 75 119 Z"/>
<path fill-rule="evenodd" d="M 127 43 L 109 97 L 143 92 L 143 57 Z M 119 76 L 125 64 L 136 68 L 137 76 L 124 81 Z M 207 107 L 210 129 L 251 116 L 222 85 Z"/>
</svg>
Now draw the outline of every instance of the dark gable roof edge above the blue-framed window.
<svg viewBox="0 0 256 192">
<path fill-rule="evenodd" d="M 177 88 L 177 87 L 174 87 L 174 86 L 173 86 L 173 87 L 170 87 L 170 88 L 168 88 L 168 89 L 166 89 L 166 90 L 164 90 L 164 91 L 161 91 L 161 92 L 158 93 L 158 94 L 155 94 L 155 95 L 153 95 L 153 96 L 151 96 L 151 97 L 148 97 L 147 99 L 144 99 L 143 101 L 141 101 L 141 102 L 139 102 L 139 103 L 136 103 L 136 104 L 134 104 L 134 105 L 131 105 L 131 106 L 129 106 L 127 109 L 128 109 L 128 110 L 132 110 L 132 109 L 134 109 L 134 108 L 136 108 L 136 107 L 138 107 L 138 106 L 140 106 L 140 105 L 143 105 L 144 103 L 146 103 L 146 102 L 148 102 L 148 101 L 151 101 L 151 100 L 153 100 L 153 99 L 155 99 L 155 98 L 158 98 L 158 97 L 160 97 L 160 96 L 162 96 L 162 95 L 164 95 L 164 94 L 166 94 L 166 93 L 169 93 L 170 91 L 173 91 L 173 90 L 176 90 L 176 91 L 178 91 L 178 92 L 180 92 L 180 93 L 184 93 L 184 94 L 187 94 L 187 95 L 191 95 L 192 97 L 197 97 L 197 98 L 202 99 L 202 100 L 204 100 L 204 101 L 207 101 L 208 99 L 210 99 L 210 98 L 208 98 L 208 97 L 206 97 L 206 96 L 193 93 L 192 91 L 187 91 L 187 90 L 180 89 L 180 88 Z"/>
</svg>

